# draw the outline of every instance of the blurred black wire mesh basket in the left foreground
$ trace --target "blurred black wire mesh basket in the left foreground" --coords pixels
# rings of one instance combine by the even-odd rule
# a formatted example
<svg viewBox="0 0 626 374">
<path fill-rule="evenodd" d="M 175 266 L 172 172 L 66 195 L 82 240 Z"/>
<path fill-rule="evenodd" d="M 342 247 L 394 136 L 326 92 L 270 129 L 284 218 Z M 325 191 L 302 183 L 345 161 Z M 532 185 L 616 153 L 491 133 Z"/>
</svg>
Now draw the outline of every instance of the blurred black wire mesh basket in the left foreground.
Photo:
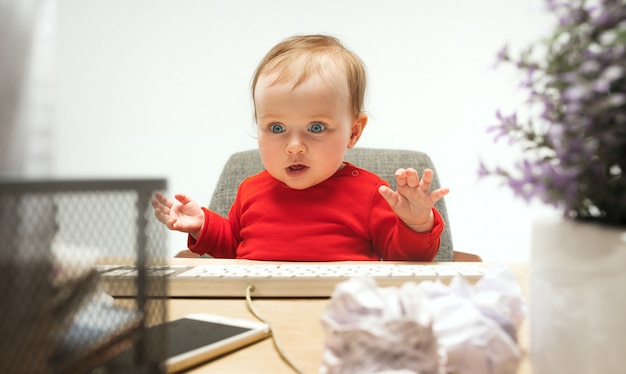
<svg viewBox="0 0 626 374">
<path fill-rule="evenodd" d="M 150 199 L 163 179 L 0 180 L 0 373 L 159 373 L 166 257 Z M 103 264 L 136 266 L 113 298 Z M 106 266 L 106 265 L 104 265 Z M 118 290 L 125 291 L 125 290 Z"/>
</svg>

